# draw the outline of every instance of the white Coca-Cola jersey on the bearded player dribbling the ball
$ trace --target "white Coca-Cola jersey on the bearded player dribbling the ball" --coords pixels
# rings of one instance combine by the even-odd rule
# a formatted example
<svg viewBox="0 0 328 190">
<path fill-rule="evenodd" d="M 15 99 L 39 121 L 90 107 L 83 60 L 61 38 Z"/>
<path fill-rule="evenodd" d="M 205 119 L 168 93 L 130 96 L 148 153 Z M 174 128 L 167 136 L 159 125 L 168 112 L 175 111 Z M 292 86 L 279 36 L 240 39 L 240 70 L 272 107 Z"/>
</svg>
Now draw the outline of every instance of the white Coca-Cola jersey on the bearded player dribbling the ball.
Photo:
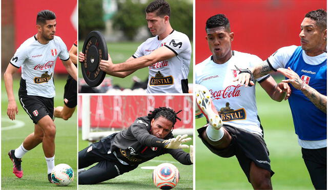
<svg viewBox="0 0 328 190">
<path fill-rule="evenodd" d="M 20 83 L 20 92 L 33 96 L 54 97 L 53 75 L 58 56 L 61 60 L 70 58 L 64 41 L 58 36 L 54 36 L 48 44 L 40 44 L 35 35 L 24 41 L 10 60 L 14 67 L 22 67 L 23 80 Z M 22 81 L 25 84 L 22 85 Z"/>
</svg>

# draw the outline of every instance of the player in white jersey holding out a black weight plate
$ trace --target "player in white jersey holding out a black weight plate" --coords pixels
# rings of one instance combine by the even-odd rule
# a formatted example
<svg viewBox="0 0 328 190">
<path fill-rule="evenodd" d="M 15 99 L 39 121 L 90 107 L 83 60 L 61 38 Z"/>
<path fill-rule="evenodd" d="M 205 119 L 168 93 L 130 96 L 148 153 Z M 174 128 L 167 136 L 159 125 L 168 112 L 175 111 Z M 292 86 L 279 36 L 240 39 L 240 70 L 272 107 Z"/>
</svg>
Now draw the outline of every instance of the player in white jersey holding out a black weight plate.
<svg viewBox="0 0 328 190">
<path fill-rule="evenodd" d="M 188 93 L 190 40 L 171 27 L 170 15 L 170 5 L 164 0 L 150 3 L 146 8 L 146 20 L 155 37 L 142 43 L 126 62 L 113 64 L 110 56 L 108 60 L 101 60 L 100 69 L 124 78 L 148 67 L 147 93 Z M 79 52 L 79 61 L 84 61 L 82 52 Z"/>
</svg>

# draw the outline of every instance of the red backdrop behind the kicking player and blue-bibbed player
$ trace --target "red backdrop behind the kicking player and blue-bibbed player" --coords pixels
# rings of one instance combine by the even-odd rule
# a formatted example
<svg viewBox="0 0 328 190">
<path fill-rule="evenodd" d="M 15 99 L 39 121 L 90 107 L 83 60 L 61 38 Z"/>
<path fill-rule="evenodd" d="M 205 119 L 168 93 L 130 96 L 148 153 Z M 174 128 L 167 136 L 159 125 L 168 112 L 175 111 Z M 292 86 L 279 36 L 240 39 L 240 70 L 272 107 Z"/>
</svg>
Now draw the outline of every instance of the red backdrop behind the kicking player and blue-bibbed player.
<svg viewBox="0 0 328 190">
<path fill-rule="evenodd" d="M 312 10 L 325 9 L 326 1 L 209 1 L 196 0 L 196 51 L 198 64 L 211 54 L 205 39 L 206 20 L 225 14 L 234 32 L 232 49 L 267 59 L 284 46 L 300 46 L 300 24 Z"/>
</svg>

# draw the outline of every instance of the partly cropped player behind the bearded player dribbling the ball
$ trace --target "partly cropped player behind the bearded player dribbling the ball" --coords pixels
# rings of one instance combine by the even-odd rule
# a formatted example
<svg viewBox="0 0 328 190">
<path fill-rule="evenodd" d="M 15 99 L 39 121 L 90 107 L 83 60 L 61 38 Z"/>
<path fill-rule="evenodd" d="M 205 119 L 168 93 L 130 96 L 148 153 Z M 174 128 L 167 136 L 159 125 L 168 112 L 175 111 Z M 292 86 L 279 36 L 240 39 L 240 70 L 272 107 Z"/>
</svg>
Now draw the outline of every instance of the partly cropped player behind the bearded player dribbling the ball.
<svg viewBox="0 0 328 190">
<path fill-rule="evenodd" d="M 70 51 L 70 59 L 72 60 L 75 67 L 77 67 L 77 40 L 71 47 Z M 58 106 L 55 108 L 53 113 L 54 117 L 63 118 L 64 120 L 68 120 L 72 117 L 75 107 L 77 104 L 77 82 L 71 75 L 68 75 L 65 91 L 64 91 L 64 107 Z"/>
</svg>

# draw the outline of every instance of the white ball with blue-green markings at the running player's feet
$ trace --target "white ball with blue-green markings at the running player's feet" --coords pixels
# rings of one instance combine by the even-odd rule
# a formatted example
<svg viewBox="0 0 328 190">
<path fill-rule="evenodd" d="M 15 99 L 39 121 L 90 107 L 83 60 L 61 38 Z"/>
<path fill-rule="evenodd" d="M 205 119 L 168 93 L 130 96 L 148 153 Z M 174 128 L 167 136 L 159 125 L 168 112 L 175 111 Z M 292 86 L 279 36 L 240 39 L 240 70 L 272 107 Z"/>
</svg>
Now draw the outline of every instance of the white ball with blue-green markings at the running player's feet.
<svg viewBox="0 0 328 190">
<path fill-rule="evenodd" d="M 67 186 L 74 179 L 74 171 L 71 166 L 65 163 L 58 164 L 51 172 L 51 179 L 58 186 Z"/>
</svg>

